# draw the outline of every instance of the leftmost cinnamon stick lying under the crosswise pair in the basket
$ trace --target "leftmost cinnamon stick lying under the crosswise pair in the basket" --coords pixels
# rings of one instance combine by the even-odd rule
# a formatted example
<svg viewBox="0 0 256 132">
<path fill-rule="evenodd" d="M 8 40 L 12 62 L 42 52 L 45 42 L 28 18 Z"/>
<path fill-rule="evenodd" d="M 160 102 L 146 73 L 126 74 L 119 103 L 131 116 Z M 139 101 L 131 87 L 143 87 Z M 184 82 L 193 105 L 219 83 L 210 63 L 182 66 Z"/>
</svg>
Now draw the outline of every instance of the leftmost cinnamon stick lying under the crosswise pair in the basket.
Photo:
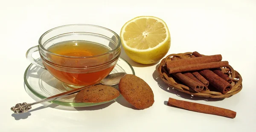
<svg viewBox="0 0 256 132">
<path fill-rule="evenodd" d="M 204 84 L 200 84 L 195 80 L 192 80 L 191 78 L 183 75 L 182 73 L 174 73 L 172 75 L 174 75 L 178 80 L 186 84 L 186 86 L 189 86 L 195 92 L 200 92 L 204 89 Z"/>
</svg>

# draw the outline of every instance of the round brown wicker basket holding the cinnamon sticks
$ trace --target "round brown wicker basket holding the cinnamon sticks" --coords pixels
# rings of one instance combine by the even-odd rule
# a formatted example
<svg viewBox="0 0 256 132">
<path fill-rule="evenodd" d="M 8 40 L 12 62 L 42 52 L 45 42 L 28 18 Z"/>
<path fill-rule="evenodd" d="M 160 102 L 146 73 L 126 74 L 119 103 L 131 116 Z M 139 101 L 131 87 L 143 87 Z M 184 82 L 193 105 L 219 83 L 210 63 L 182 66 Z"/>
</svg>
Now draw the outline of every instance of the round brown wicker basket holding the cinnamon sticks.
<svg viewBox="0 0 256 132">
<path fill-rule="evenodd" d="M 173 60 L 175 60 L 175 57 L 179 57 L 180 59 L 182 58 L 188 58 L 192 55 L 192 52 L 186 52 L 186 53 L 180 53 L 180 54 L 171 54 L 168 55 L 166 58 L 164 58 L 160 66 L 158 67 L 158 73 L 160 74 L 161 79 L 167 83 L 169 86 L 179 90 L 180 92 L 185 92 L 190 95 L 194 96 L 200 96 L 200 97 L 207 97 L 207 98 L 228 98 L 232 95 L 235 95 L 236 93 L 240 92 L 242 89 L 242 77 L 241 75 L 235 71 L 230 65 L 228 67 L 223 67 L 221 68 L 222 72 L 225 74 L 229 75 L 232 79 L 232 89 L 227 92 L 226 94 L 222 94 L 221 92 L 215 92 L 215 91 L 210 91 L 209 89 L 204 89 L 201 92 L 195 92 L 192 91 L 188 86 L 185 86 L 183 84 L 177 83 L 175 81 L 175 78 L 172 75 L 169 75 L 167 70 L 166 70 L 166 61 L 171 61 L 172 57 Z"/>
</svg>

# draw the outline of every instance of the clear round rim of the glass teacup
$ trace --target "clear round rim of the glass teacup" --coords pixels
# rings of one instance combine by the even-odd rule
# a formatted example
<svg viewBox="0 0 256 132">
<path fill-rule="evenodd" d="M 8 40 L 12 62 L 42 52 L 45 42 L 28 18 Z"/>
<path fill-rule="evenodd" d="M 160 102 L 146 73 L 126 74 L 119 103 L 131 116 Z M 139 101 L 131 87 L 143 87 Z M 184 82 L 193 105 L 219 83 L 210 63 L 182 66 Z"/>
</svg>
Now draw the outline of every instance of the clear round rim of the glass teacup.
<svg viewBox="0 0 256 132">
<path fill-rule="evenodd" d="M 53 52 L 49 52 L 47 49 L 45 49 L 44 46 L 43 46 L 42 43 L 41 43 L 41 40 L 43 39 L 43 37 L 44 37 L 47 33 L 51 32 L 51 31 L 53 31 L 53 30 L 55 30 L 55 29 L 59 29 L 59 28 L 62 28 L 62 27 L 67 27 L 67 26 L 94 26 L 94 27 L 97 27 L 97 28 L 101 28 L 101 29 L 108 30 L 108 31 L 112 32 L 112 33 L 117 37 L 118 44 L 117 44 L 117 46 L 115 47 L 115 49 L 111 49 L 111 50 L 108 51 L 108 52 L 105 52 L 105 53 L 100 54 L 100 55 L 86 56 L 86 57 L 75 57 L 75 56 L 59 55 L 59 54 L 55 54 L 55 53 L 53 53 Z M 60 34 L 59 34 L 59 35 L 60 35 Z M 111 52 L 117 50 L 117 49 L 121 46 L 121 39 L 120 39 L 120 36 L 119 36 L 118 34 L 116 34 L 116 32 L 112 31 L 111 29 L 102 27 L 102 26 L 91 25 L 91 24 L 69 24 L 69 25 L 58 26 L 58 27 L 55 27 L 55 28 L 53 28 L 53 29 L 48 30 L 47 32 L 44 32 L 44 34 L 42 34 L 41 37 L 39 38 L 38 43 L 39 43 L 39 47 L 41 47 L 41 49 L 43 49 L 44 52 L 47 52 L 48 54 L 57 55 L 57 56 L 61 56 L 61 57 L 69 57 L 69 58 L 93 58 L 93 57 L 100 57 L 100 56 L 103 56 L 103 55 L 107 55 L 108 53 L 111 53 Z"/>
</svg>

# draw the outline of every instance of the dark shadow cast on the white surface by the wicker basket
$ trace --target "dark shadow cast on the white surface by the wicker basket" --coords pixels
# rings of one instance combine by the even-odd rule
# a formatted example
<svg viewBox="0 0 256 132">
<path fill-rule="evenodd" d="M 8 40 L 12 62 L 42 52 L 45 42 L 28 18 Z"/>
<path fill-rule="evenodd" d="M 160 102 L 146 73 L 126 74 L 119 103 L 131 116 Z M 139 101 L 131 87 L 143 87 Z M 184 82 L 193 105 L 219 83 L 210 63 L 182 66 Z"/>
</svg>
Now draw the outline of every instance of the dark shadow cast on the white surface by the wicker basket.
<svg viewBox="0 0 256 132">
<path fill-rule="evenodd" d="M 159 73 L 157 71 L 158 67 L 160 66 L 160 64 L 158 64 L 156 66 L 155 71 L 152 74 L 152 77 L 154 78 L 155 81 L 157 81 L 158 86 L 163 89 L 166 92 L 175 94 L 181 98 L 185 98 L 185 99 L 189 99 L 189 100 L 205 100 L 205 101 L 220 101 L 220 100 L 224 100 L 224 98 L 206 98 L 206 97 L 198 97 L 198 96 L 193 96 L 193 95 L 189 95 L 186 94 L 184 92 L 180 92 L 178 90 L 176 90 L 173 87 L 168 86 L 159 76 Z M 167 103 L 166 103 L 167 105 Z"/>
</svg>

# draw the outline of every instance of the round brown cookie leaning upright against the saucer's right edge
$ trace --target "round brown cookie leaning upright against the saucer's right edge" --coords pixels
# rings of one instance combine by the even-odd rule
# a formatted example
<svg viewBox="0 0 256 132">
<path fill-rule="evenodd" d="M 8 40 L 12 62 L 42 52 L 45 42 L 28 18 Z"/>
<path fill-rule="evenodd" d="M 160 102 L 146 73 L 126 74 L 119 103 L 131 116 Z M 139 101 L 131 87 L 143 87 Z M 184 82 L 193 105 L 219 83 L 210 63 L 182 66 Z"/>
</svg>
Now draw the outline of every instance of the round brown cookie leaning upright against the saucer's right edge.
<svg viewBox="0 0 256 132">
<path fill-rule="evenodd" d="M 150 86 L 135 75 L 125 75 L 119 83 L 121 95 L 137 109 L 146 109 L 153 105 L 154 94 Z"/>
</svg>

